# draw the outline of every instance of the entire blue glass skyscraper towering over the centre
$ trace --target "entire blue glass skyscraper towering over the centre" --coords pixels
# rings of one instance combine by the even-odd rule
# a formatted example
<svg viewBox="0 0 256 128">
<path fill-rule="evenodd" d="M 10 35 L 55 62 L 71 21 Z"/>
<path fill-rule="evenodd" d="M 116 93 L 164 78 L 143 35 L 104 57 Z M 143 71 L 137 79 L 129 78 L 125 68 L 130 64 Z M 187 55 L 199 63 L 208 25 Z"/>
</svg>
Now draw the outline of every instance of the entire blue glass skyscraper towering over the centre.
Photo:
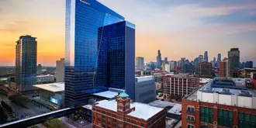
<svg viewBox="0 0 256 128">
<path fill-rule="evenodd" d="M 66 1 L 66 107 L 85 105 L 92 93 L 109 87 L 126 89 L 131 75 L 134 86 L 134 72 L 126 65 L 132 63 L 129 68 L 134 71 L 134 35 L 134 25 L 105 5 L 95 0 Z"/>
</svg>

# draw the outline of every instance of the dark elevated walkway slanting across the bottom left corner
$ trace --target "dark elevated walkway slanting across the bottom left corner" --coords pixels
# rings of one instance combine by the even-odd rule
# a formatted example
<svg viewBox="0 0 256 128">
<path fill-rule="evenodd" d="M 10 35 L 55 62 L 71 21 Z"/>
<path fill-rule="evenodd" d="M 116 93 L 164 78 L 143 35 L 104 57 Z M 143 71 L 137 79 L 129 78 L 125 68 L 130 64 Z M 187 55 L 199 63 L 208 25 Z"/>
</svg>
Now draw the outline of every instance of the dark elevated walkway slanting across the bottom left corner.
<svg viewBox="0 0 256 128">
<path fill-rule="evenodd" d="M 43 123 L 50 117 L 59 118 L 62 116 L 71 115 L 72 113 L 74 113 L 73 108 L 60 109 L 54 112 L 47 112 L 47 113 L 44 113 L 38 116 L 33 116 L 27 119 L 20 119 L 17 121 L 13 121 L 11 123 L 5 123 L 0 125 L 0 127 L 1 128 L 24 128 L 24 127 L 36 125 L 38 123 Z"/>
</svg>

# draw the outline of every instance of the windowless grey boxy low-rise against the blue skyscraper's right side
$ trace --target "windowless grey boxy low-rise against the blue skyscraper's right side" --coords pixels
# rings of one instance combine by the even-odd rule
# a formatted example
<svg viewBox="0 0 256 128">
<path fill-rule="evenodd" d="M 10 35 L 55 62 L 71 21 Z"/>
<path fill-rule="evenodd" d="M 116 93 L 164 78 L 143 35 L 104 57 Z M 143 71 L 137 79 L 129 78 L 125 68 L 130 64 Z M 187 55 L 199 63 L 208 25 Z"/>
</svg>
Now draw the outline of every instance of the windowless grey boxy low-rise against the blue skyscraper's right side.
<svg viewBox="0 0 256 128">
<path fill-rule="evenodd" d="M 149 103 L 156 99 L 156 87 L 153 76 L 135 78 L 135 102 Z"/>
</svg>

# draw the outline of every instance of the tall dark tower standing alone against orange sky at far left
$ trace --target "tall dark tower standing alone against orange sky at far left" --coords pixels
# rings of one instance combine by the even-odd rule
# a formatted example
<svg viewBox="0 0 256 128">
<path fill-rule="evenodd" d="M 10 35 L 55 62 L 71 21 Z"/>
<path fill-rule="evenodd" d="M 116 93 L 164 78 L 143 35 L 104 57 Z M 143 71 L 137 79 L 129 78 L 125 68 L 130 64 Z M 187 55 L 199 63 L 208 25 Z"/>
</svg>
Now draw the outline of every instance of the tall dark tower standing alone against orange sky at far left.
<svg viewBox="0 0 256 128">
<path fill-rule="evenodd" d="M 19 36 L 16 41 L 16 85 L 19 92 L 31 92 L 36 84 L 37 42 L 33 36 Z"/>
</svg>

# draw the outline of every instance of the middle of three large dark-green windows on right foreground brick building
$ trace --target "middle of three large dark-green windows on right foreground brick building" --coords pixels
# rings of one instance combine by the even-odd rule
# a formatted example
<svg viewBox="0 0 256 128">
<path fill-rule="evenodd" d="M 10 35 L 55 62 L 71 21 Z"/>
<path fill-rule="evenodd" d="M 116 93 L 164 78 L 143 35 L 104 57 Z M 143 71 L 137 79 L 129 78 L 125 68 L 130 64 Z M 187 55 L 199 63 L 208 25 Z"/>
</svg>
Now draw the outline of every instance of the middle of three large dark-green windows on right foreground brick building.
<svg viewBox="0 0 256 128">
<path fill-rule="evenodd" d="M 218 109 L 218 126 L 233 127 L 233 111 Z"/>
</svg>

